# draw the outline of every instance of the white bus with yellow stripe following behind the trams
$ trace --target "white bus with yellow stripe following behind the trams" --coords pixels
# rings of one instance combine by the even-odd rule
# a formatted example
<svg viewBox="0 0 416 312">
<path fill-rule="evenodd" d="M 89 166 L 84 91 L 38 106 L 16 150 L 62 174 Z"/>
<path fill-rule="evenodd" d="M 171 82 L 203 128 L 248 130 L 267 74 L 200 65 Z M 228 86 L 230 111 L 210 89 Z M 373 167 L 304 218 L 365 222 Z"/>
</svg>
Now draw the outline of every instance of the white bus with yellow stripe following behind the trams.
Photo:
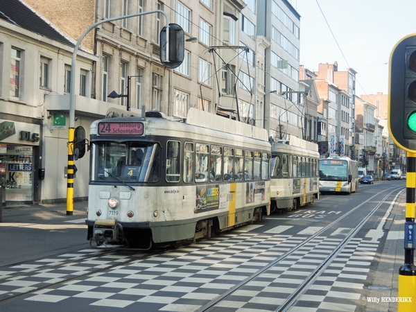
<svg viewBox="0 0 416 312">
<path fill-rule="evenodd" d="M 358 162 L 349 157 L 329 157 L 319 162 L 320 193 L 354 193 L 358 189 Z"/>
</svg>

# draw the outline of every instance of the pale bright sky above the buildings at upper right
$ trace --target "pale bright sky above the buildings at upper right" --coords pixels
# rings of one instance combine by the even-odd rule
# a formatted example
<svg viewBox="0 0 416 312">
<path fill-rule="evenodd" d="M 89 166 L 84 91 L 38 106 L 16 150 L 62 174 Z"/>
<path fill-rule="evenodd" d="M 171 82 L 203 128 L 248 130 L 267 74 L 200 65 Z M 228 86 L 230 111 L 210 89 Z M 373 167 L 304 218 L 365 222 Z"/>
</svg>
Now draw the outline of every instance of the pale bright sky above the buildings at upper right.
<svg viewBox="0 0 416 312">
<path fill-rule="evenodd" d="M 357 96 L 388 94 L 390 53 L 403 37 L 416 34 L 416 0 L 289 2 L 301 16 L 301 65 L 318 71 L 318 64 L 336 61 L 338 71 L 358 72 Z"/>
</svg>

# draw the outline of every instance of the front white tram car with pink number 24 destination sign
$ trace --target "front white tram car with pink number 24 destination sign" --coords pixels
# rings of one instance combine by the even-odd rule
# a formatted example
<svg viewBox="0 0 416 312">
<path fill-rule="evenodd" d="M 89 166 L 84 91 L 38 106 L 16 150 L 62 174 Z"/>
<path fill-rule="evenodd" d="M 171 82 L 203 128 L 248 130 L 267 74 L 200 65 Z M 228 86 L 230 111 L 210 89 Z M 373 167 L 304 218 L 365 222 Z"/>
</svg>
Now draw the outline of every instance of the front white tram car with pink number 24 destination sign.
<svg viewBox="0 0 416 312">
<path fill-rule="evenodd" d="M 92 243 L 147 249 L 270 214 L 264 129 L 191 108 L 183 121 L 160 112 L 101 119 L 90 135 Z"/>
</svg>

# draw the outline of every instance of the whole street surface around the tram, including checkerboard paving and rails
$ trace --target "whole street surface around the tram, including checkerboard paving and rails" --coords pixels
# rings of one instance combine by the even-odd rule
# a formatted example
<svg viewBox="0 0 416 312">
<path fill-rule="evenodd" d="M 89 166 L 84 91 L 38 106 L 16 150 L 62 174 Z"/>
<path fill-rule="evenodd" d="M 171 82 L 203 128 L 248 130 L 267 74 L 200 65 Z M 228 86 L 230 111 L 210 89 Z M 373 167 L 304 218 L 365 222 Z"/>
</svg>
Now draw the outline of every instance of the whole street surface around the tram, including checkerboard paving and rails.
<svg viewBox="0 0 416 312">
<path fill-rule="evenodd" d="M 14 261 L 8 255 L 0 267 L 0 309 L 395 311 L 397 304 L 382 301 L 397 296 L 395 268 L 403 258 L 396 251 L 403 244 L 394 229 L 404 223 L 405 189 L 404 181 L 375 182 L 349 196 L 320 196 L 261 223 L 155 252 L 89 248 L 83 227 L 66 229 L 73 241 L 62 230 L 62 242 L 48 249 L 53 231 L 6 218 L 2 240 L 17 232 L 43 234 L 46 253 L 32 246 L 26 257 L 18 248 Z"/>
</svg>

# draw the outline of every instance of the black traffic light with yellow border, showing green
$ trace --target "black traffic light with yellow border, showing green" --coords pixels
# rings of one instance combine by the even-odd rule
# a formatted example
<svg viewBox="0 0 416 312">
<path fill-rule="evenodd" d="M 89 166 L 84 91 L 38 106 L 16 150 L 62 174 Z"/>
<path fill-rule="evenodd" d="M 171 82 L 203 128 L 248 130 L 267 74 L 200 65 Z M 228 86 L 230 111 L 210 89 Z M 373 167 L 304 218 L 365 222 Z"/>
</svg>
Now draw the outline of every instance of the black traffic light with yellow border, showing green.
<svg viewBox="0 0 416 312">
<path fill-rule="evenodd" d="M 395 143 L 416 153 L 416 34 L 400 40 L 390 55 L 388 127 Z"/>
</svg>

